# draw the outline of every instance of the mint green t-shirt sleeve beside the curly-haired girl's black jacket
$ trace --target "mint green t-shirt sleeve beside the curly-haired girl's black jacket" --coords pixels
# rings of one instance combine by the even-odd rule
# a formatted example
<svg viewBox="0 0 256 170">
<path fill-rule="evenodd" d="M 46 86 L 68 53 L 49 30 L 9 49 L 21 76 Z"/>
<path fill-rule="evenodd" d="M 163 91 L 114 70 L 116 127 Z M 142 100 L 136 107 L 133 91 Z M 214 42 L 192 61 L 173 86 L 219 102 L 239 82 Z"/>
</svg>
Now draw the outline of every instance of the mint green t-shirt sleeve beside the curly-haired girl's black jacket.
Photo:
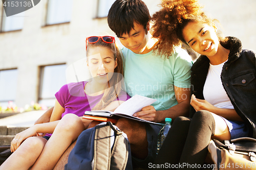
<svg viewBox="0 0 256 170">
<path fill-rule="evenodd" d="M 180 88 L 190 88 L 191 66 L 193 61 L 187 52 L 179 49 L 176 52 L 174 66 L 174 85 Z"/>
</svg>

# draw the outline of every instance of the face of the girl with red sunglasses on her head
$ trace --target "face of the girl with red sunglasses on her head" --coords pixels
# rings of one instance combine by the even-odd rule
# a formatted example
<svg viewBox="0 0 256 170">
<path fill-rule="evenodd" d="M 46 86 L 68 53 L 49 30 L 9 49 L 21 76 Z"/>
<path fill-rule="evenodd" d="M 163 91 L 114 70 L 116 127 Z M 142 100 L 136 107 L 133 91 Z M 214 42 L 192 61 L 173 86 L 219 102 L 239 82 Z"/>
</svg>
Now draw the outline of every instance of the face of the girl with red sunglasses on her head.
<svg viewBox="0 0 256 170">
<path fill-rule="evenodd" d="M 94 80 L 107 83 L 113 76 L 117 61 L 108 47 L 95 46 L 90 48 L 87 65 Z"/>
</svg>

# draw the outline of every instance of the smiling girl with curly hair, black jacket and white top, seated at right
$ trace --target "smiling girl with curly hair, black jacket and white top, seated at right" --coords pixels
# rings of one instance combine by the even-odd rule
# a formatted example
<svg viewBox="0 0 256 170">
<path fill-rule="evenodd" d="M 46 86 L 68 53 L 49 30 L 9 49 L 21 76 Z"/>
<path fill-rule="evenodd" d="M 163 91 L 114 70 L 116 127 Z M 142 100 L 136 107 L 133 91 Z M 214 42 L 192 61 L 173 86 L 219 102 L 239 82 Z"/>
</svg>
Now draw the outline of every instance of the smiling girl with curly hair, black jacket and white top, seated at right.
<svg viewBox="0 0 256 170">
<path fill-rule="evenodd" d="M 182 42 L 201 56 L 191 68 L 189 117 L 175 119 L 156 164 L 203 167 L 210 139 L 256 138 L 256 59 L 235 37 L 217 34 L 195 0 L 165 0 L 153 15 L 160 53 Z M 191 166 L 182 166 L 189 169 Z"/>
</svg>

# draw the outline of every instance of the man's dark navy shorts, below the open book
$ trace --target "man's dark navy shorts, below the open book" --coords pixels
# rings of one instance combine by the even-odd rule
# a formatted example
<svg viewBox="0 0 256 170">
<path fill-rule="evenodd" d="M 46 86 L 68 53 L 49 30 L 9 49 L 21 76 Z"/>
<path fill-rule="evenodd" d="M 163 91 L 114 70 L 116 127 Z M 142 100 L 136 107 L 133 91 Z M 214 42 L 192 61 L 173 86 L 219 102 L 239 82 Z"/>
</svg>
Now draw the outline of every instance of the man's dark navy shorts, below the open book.
<svg viewBox="0 0 256 170">
<path fill-rule="evenodd" d="M 148 143 L 148 155 L 144 160 L 132 157 L 133 166 L 148 168 L 148 163 L 153 163 L 157 156 L 157 136 L 159 131 L 161 130 L 161 125 L 144 123 L 147 135 L 147 143 Z"/>
</svg>

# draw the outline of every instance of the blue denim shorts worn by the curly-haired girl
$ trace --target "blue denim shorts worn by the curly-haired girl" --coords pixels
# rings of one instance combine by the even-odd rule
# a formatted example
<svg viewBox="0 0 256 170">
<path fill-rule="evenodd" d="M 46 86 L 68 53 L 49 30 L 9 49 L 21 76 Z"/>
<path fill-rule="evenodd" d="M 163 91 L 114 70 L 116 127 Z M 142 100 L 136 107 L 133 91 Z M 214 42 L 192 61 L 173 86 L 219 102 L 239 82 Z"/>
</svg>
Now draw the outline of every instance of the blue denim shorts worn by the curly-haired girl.
<svg viewBox="0 0 256 170">
<path fill-rule="evenodd" d="M 222 118 L 225 120 L 229 128 L 231 139 L 236 139 L 239 137 L 248 137 L 249 129 L 244 122 L 227 120 L 224 117 Z"/>
</svg>

